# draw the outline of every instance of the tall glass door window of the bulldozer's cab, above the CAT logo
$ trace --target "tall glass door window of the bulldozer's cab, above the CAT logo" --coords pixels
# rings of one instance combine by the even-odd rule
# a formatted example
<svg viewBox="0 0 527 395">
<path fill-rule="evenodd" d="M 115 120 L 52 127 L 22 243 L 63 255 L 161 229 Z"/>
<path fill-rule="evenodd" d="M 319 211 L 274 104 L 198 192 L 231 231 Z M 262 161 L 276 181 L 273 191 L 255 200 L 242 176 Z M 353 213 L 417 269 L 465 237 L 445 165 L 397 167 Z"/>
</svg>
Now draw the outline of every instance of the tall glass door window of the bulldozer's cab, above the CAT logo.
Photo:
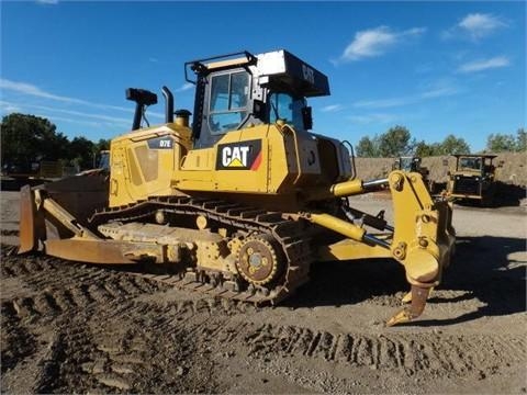
<svg viewBox="0 0 527 395">
<path fill-rule="evenodd" d="M 212 77 L 209 128 L 213 135 L 236 129 L 244 122 L 249 88 L 249 75 L 246 71 Z"/>
</svg>

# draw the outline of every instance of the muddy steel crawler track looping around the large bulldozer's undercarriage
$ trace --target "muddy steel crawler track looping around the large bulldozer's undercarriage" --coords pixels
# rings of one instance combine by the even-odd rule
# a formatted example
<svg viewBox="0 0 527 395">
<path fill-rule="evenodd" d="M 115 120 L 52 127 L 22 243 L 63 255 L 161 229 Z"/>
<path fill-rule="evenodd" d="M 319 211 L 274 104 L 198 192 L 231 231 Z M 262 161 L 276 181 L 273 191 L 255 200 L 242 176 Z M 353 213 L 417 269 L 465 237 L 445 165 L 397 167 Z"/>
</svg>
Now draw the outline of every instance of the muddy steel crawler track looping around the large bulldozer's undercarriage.
<svg viewBox="0 0 527 395">
<path fill-rule="evenodd" d="M 139 272 L 136 275 L 186 290 L 255 304 L 277 304 L 309 280 L 310 266 L 314 260 L 310 238 L 305 237 L 301 223 L 283 219 L 281 213 L 269 213 L 212 199 L 162 196 L 96 212 L 89 222 L 97 225 L 108 222 L 130 223 L 153 217 L 159 210 L 190 217 L 202 215 L 208 221 L 242 232 L 269 233 L 282 248 L 287 259 L 285 270 L 271 289 L 247 284 L 245 281 L 238 281 L 236 286 L 233 286 L 233 282 L 226 281 L 222 273 L 201 267 L 186 267 L 186 271 L 176 274 Z"/>
</svg>

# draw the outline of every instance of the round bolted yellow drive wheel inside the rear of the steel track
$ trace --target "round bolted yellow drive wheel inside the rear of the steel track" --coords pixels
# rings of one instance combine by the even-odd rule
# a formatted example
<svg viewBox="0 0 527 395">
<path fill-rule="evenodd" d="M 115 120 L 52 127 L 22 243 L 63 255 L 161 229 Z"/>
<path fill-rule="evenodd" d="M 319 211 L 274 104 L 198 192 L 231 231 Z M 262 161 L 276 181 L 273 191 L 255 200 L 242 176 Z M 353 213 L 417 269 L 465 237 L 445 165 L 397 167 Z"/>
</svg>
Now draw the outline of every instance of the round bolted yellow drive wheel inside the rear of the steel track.
<svg viewBox="0 0 527 395">
<path fill-rule="evenodd" d="M 274 244 L 271 235 L 249 236 L 242 242 L 236 267 L 249 283 L 265 285 L 280 275 L 283 263 Z"/>
</svg>

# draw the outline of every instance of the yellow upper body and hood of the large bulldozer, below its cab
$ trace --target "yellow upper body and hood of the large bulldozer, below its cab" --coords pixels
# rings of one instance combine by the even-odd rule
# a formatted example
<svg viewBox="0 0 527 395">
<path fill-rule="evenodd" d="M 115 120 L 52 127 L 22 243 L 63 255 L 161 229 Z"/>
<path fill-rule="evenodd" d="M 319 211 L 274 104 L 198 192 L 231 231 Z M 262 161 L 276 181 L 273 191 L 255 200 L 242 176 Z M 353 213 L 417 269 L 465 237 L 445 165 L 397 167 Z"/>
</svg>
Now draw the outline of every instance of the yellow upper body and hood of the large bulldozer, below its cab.
<svg viewBox="0 0 527 395">
<path fill-rule="evenodd" d="M 229 132 L 213 147 L 201 149 L 191 149 L 190 133 L 188 127 L 168 124 L 112 140 L 110 206 L 149 196 L 214 192 L 236 193 L 235 200 L 246 203 L 261 195 L 278 210 L 301 204 L 296 193 L 303 187 L 312 191 L 330 185 L 323 176 L 323 147 L 290 125 Z M 153 149 L 152 142 L 171 148 Z M 336 181 L 349 176 L 350 167 Z"/>
</svg>

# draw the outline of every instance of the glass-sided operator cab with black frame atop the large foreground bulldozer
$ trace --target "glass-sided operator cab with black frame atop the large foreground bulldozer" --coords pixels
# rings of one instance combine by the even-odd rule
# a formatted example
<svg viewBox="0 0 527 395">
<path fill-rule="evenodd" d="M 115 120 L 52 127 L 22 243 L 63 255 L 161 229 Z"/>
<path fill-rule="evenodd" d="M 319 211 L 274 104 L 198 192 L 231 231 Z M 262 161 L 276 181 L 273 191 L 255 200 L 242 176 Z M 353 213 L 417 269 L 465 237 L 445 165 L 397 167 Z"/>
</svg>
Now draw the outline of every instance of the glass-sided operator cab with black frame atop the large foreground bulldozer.
<svg viewBox="0 0 527 395">
<path fill-rule="evenodd" d="M 227 132 L 279 120 L 309 131 L 313 122 L 306 98 L 329 94 L 325 75 L 283 49 L 188 61 L 186 79 L 197 86 L 194 148 L 213 146 Z"/>
</svg>

